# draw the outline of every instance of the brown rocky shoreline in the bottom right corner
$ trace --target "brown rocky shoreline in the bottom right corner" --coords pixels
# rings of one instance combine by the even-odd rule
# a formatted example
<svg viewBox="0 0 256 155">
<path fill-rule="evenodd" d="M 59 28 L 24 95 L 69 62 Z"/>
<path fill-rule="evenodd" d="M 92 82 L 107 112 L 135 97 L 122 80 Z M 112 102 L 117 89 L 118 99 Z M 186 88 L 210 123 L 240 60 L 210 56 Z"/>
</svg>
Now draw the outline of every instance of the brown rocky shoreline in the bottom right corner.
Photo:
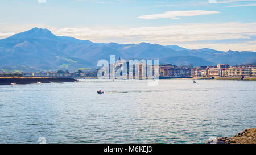
<svg viewBox="0 0 256 155">
<path fill-rule="evenodd" d="M 233 137 L 217 137 L 207 144 L 256 144 L 256 128 L 245 129 Z"/>
</svg>

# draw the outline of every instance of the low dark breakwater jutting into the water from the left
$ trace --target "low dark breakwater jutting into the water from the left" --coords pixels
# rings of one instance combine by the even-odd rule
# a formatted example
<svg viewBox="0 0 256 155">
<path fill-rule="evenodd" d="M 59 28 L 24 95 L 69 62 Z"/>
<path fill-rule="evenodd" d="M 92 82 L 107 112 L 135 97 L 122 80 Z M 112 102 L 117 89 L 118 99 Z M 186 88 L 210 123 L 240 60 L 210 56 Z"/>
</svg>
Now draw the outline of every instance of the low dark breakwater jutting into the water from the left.
<svg viewBox="0 0 256 155">
<path fill-rule="evenodd" d="M 0 85 L 17 85 L 32 84 L 32 83 L 51 83 L 51 82 L 76 82 L 73 78 L 0 78 Z"/>
</svg>

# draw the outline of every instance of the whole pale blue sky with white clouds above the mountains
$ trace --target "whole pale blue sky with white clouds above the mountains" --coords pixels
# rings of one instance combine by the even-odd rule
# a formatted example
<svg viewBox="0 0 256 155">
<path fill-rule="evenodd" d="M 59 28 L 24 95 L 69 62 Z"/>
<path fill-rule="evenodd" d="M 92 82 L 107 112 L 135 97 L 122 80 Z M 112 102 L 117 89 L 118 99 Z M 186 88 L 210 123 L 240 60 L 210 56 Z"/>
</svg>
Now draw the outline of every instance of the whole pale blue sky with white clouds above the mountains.
<svg viewBox="0 0 256 155">
<path fill-rule="evenodd" d="M 95 43 L 256 52 L 256 0 L 1 0 L 0 39 L 31 28 Z"/>
</svg>

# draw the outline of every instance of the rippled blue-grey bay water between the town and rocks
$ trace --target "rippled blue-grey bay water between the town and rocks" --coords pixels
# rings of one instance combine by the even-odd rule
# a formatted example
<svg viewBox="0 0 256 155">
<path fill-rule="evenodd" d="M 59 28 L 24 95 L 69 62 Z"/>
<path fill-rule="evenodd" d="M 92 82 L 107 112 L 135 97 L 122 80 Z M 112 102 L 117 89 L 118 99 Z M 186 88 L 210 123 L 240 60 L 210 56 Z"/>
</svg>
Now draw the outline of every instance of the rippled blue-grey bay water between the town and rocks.
<svg viewBox="0 0 256 155">
<path fill-rule="evenodd" d="M 0 143 L 205 143 L 255 127 L 255 94 L 255 81 L 0 86 Z"/>
</svg>

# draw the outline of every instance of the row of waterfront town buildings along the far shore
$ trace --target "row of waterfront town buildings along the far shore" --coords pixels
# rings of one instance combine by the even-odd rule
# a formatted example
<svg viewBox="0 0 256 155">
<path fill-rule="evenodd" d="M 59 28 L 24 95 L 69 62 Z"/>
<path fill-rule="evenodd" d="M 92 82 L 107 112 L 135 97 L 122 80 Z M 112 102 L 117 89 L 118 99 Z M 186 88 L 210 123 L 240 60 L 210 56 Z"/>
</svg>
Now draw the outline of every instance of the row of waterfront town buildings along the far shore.
<svg viewBox="0 0 256 155">
<path fill-rule="evenodd" d="M 126 63 L 126 64 L 125 64 Z M 127 61 L 121 61 L 119 58 L 115 64 L 109 64 L 108 66 L 104 66 L 102 70 L 102 74 L 109 74 L 109 77 L 106 74 L 106 78 L 110 77 L 110 68 L 112 68 L 113 73 L 119 72 L 120 68 L 128 67 L 129 63 Z M 155 74 L 154 65 L 150 66 L 151 71 L 148 70 L 148 66 L 145 62 L 137 62 L 135 64 L 131 64 L 129 66 L 133 68 L 133 70 L 126 70 L 125 73 L 122 73 L 124 70 L 121 70 L 119 77 L 115 74 L 114 78 L 130 78 L 133 79 L 147 79 L 148 77 L 152 77 Z M 24 77 L 97 77 L 97 69 L 96 71 L 86 72 L 86 73 L 53 73 L 53 72 L 45 72 L 45 73 L 22 73 Z M 109 72 L 108 72 L 109 71 Z M 228 64 L 218 64 L 217 66 L 197 66 L 196 68 L 178 68 L 175 65 L 164 64 L 159 65 L 159 76 L 160 77 L 256 77 L 256 67 L 253 65 L 246 66 L 238 66 L 238 67 L 229 67 Z M 150 72 L 150 73 L 148 73 Z"/>
</svg>

